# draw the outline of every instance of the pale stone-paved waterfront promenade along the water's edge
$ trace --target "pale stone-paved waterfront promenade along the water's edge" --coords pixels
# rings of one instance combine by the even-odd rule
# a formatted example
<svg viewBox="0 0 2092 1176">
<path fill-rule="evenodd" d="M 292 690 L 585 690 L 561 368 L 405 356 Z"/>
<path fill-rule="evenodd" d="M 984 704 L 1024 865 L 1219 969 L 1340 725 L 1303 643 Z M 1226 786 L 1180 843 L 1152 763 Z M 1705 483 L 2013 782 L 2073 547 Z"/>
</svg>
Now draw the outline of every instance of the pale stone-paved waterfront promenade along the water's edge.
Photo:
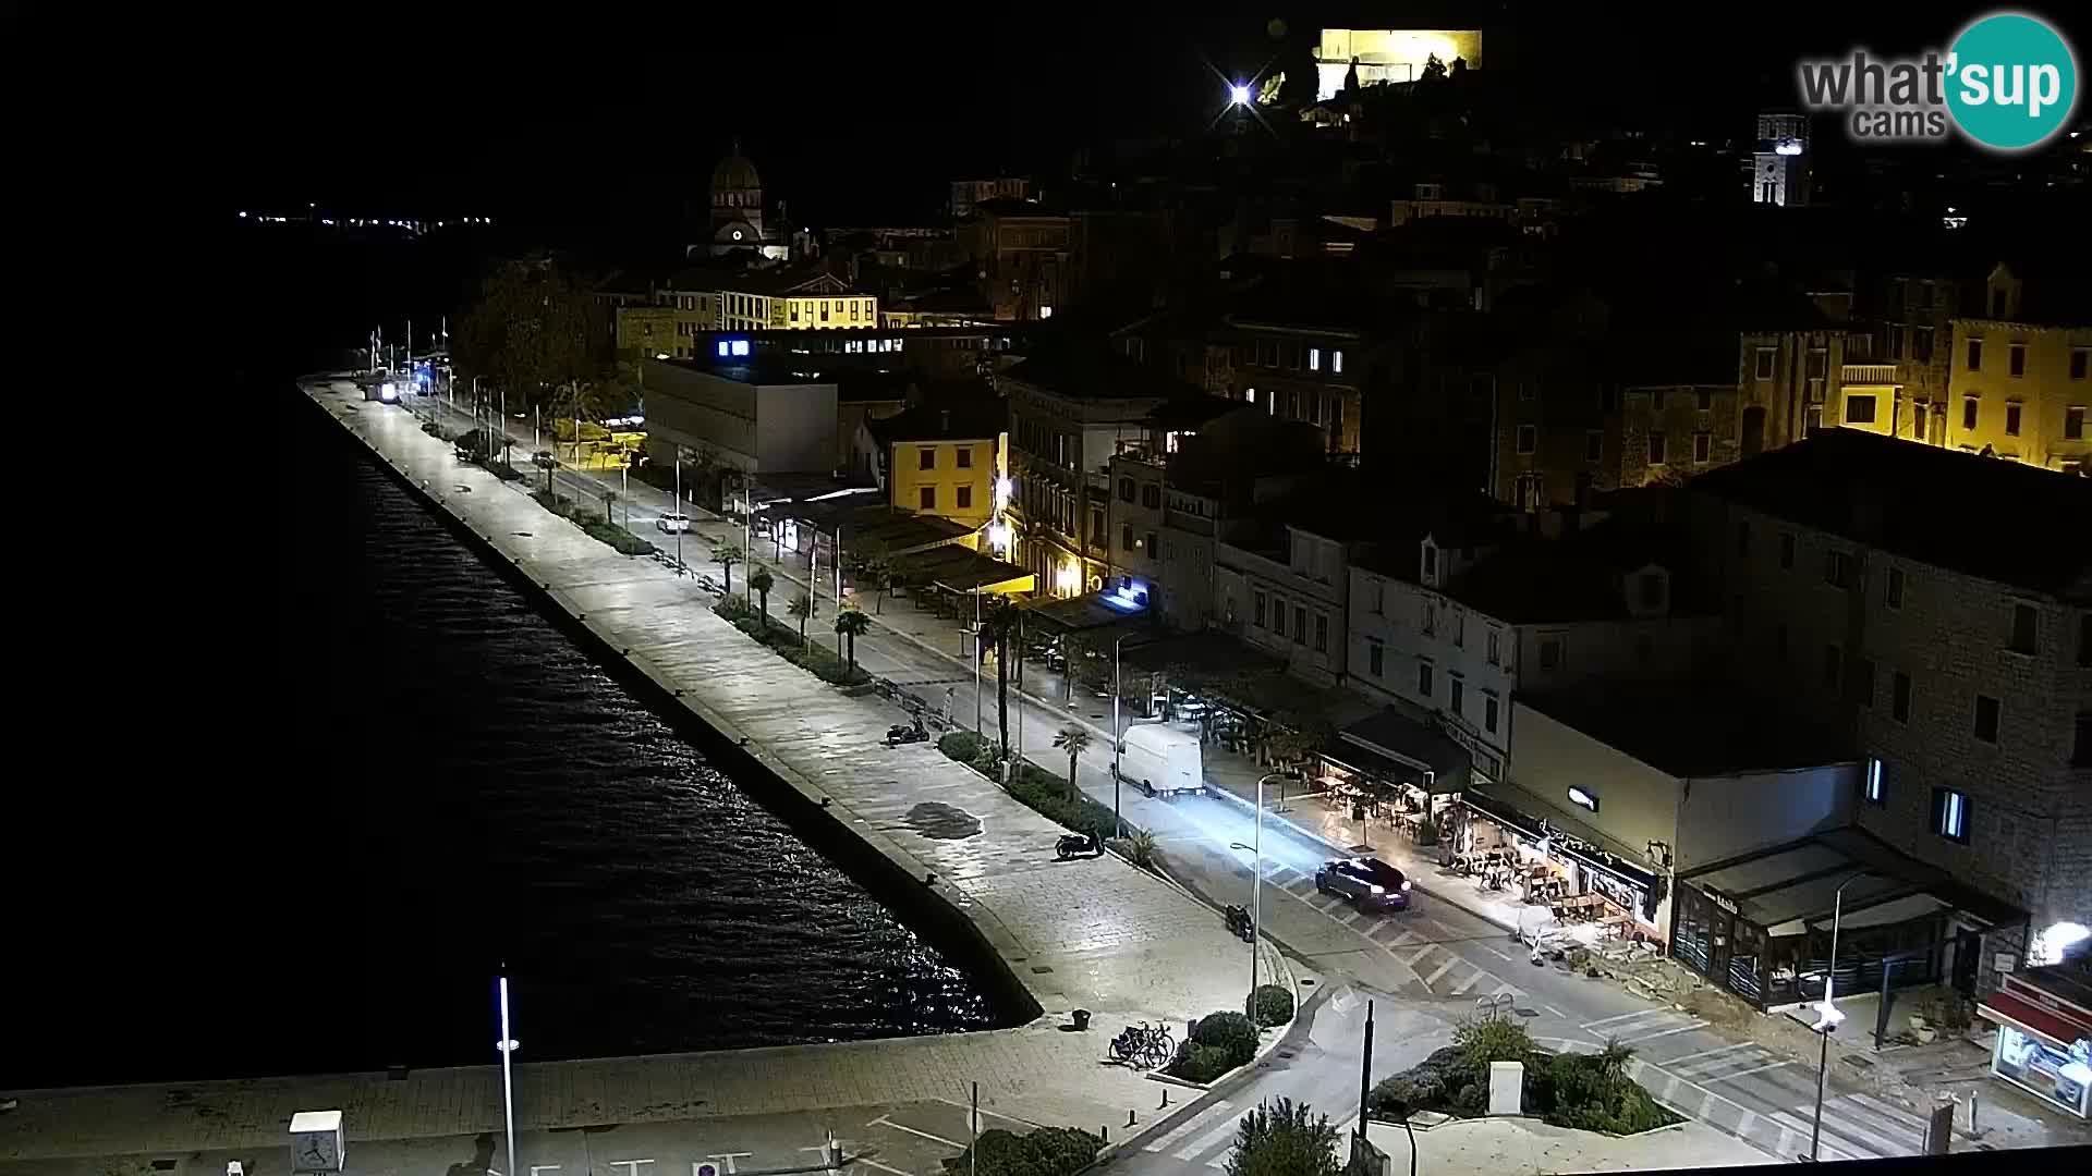
<svg viewBox="0 0 2092 1176">
<path fill-rule="evenodd" d="M 494 559 L 513 563 L 609 657 L 630 661 L 741 745 L 774 776 L 755 781 L 757 791 L 778 789 L 774 799 L 787 808 L 824 810 L 897 877 L 929 889 L 929 902 L 964 914 L 985 942 L 981 954 L 1042 1009 L 1027 1025 L 981 1034 L 540 1063 L 529 1061 L 527 1011 L 519 1011 L 519 1130 L 964 1103 L 979 1082 L 981 1105 L 998 1113 L 1088 1130 L 1109 1124 L 1119 1140 L 1130 1111 L 1142 1124 L 1153 1117 L 1161 1086 L 1105 1065 L 1111 1036 L 1132 1021 L 1172 1023 L 1182 1036 L 1184 1021 L 1241 1007 L 1249 948 L 1209 906 L 1117 858 L 1056 862 L 1056 824 L 933 747 L 883 747 L 881 734 L 897 720 L 889 703 L 845 697 L 759 649 L 711 613 L 713 596 L 692 580 L 621 557 L 546 513 L 525 488 L 460 465 L 448 442 L 423 433 L 402 408 L 326 383 L 308 385 L 308 395 Z M 808 944 L 805 967 L 820 967 L 818 944 Z M 1289 983 L 1274 950 L 1264 948 L 1261 967 Z M 1073 1009 L 1094 1013 L 1088 1032 L 1063 1032 Z M 502 1122 L 494 1065 L 404 1080 L 366 1073 L 13 1096 L 19 1107 L 0 1115 L 4 1172 L 276 1147 L 299 1109 L 343 1109 L 351 1140 L 460 1136 Z"/>
</svg>

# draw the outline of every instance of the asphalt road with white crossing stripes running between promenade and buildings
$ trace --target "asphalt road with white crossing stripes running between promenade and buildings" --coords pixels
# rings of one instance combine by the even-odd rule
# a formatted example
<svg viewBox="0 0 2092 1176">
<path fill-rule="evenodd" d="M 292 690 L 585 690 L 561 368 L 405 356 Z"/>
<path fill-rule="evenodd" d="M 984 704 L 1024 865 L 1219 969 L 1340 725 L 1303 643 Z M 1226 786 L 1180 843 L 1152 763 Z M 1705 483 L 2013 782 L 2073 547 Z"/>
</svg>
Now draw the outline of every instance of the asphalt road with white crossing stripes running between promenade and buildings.
<svg viewBox="0 0 2092 1176">
<path fill-rule="evenodd" d="M 452 421 L 469 423 L 462 414 Z M 527 439 L 525 431 L 523 442 Z M 600 500 L 602 488 L 617 488 L 613 473 L 563 467 L 556 477 L 563 494 L 588 500 Z M 653 521 L 672 508 L 667 492 L 634 479 L 628 502 L 634 532 L 653 538 L 657 546 L 674 546 L 674 536 L 653 532 Z M 697 519 L 697 529 L 682 544 L 684 559 L 695 571 L 724 578 L 724 569 L 711 561 L 711 546 L 715 540 L 738 542 L 738 527 L 695 506 L 688 513 Z M 772 607 L 780 609 L 780 601 L 803 584 L 805 565 L 795 557 L 761 563 L 778 578 L 770 596 Z M 732 582 L 736 588 L 745 584 L 743 567 L 734 569 Z M 816 584 L 814 592 L 822 601 L 822 617 L 833 615 L 831 586 Z M 925 630 L 923 613 L 910 605 L 895 605 L 893 613 L 891 619 L 874 617 L 874 628 L 858 638 L 858 663 L 933 703 L 948 699 L 958 726 L 971 726 L 975 676 L 958 649 L 960 638 L 950 626 L 941 634 Z M 902 632 L 904 628 L 918 632 Z M 835 636 L 822 619 L 808 634 L 816 640 Z M 1105 806 L 1117 801 L 1128 822 L 1149 829 L 1167 873 L 1188 889 L 1215 906 L 1249 906 L 1255 873 L 1249 845 L 1259 839 L 1253 806 L 1218 797 L 1149 799 L 1134 789 L 1115 795 L 1109 739 L 1102 737 L 1111 726 L 1109 701 L 1077 688 L 1073 705 L 1059 703 L 1052 699 L 1063 691 L 1059 678 L 1036 676 L 1031 668 L 1025 676 L 1027 688 L 1044 682 L 1040 691 L 1027 691 L 1029 697 L 1010 691 L 1010 732 L 1025 755 L 1040 766 L 1065 768 L 1067 755 L 1052 747 L 1054 732 L 1071 720 L 1092 726 L 1098 739 L 1077 766 L 1082 791 Z M 983 676 L 981 686 L 979 714 L 983 728 L 992 732 L 994 676 Z M 895 722 L 902 718 L 895 709 Z M 918 753 L 937 755 L 931 745 Z M 1571 975 L 1554 965 L 1536 967 L 1506 929 L 1433 896 L 1437 879 L 1416 879 L 1423 894 L 1410 910 L 1366 914 L 1314 889 L 1316 866 L 1335 856 L 1337 847 L 1274 820 L 1261 827 L 1261 847 L 1264 931 L 1318 973 L 1320 983 L 1360 986 L 1412 1002 L 1439 1019 L 1473 1013 L 1481 1000 L 1504 1000 L 1536 1036 L 1563 1042 L 1602 1044 L 1617 1036 L 1636 1048 L 1646 1067 L 1644 1086 L 1684 1113 L 1782 1159 L 1807 1151 L 1816 1105 L 1814 1059 L 1803 1065 L 1699 1017 L 1651 1007 L 1609 981 Z M 1245 992 L 1249 958 L 1245 948 L 1234 965 L 1243 969 Z M 1301 1067 L 1316 1065 L 1303 1061 Z M 1349 1082 L 1356 1082 L 1356 1073 Z M 1356 1088 L 1351 1099 L 1356 1101 Z M 1824 1099 L 1824 1157 L 1916 1155 L 1923 1138 L 1925 1124 L 1916 1115 L 1833 1080 Z"/>
</svg>

